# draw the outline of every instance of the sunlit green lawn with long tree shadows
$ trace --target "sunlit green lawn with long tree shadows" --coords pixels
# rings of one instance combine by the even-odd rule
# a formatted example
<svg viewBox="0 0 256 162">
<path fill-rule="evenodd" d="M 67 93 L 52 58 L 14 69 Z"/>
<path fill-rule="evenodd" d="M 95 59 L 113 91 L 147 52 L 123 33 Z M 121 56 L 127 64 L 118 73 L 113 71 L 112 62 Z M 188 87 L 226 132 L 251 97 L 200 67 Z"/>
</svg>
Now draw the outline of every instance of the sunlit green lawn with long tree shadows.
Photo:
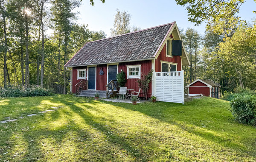
<svg viewBox="0 0 256 162">
<path fill-rule="evenodd" d="M 0 161 L 256 161 L 256 128 L 213 98 L 112 103 L 73 95 L 0 99 Z M 25 115 L 23 115 L 25 116 Z M 7 154 L 5 154 L 7 152 Z"/>
</svg>

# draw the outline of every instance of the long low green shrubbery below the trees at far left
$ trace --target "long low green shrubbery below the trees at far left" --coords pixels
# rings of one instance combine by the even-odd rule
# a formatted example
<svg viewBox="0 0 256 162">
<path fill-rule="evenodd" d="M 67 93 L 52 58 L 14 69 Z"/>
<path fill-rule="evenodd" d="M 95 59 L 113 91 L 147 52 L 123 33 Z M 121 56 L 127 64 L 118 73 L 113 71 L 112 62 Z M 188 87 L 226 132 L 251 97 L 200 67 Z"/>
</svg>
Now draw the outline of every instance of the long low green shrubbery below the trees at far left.
<svg viewBox="0 0 256 162">
<path fill-rule="evenodd" d="M 0 88 L 0 97 L 31 97 L 49 95 L 53 95 L 52 90 L 41 86 L 32 86 L 26 89 L 22 89 L 17 86 L 9 86 L 5 89 Z"/>
</svg>

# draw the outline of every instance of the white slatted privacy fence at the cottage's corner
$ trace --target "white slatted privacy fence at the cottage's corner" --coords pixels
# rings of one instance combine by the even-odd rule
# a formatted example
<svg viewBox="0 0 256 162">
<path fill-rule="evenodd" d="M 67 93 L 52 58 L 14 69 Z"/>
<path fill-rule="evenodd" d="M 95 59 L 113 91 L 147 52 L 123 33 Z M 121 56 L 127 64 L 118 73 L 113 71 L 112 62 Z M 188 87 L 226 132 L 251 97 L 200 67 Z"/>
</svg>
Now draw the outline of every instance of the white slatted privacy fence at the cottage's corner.
<svg viewBox="0 0 256 162">
<path fill-rule="evenodd" d="M 155 95 L 157 101 L 184 104 L 184 71 L 155 72 Z"/>
</svg>

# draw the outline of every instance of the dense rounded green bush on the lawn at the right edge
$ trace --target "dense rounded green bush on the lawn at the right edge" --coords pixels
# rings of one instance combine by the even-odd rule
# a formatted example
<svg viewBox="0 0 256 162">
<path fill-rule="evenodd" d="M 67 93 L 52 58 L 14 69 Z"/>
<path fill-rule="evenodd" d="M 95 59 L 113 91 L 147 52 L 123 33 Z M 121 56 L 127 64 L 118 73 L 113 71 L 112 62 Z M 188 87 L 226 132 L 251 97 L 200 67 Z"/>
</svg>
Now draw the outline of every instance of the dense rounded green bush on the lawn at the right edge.
<svg viewBox="0 0 256 162">
<path fill-rule="evenodd" d="M 230 104 L 235 120 L 256 126 L 256 95 L 236 95 Z"/>
</svg>

